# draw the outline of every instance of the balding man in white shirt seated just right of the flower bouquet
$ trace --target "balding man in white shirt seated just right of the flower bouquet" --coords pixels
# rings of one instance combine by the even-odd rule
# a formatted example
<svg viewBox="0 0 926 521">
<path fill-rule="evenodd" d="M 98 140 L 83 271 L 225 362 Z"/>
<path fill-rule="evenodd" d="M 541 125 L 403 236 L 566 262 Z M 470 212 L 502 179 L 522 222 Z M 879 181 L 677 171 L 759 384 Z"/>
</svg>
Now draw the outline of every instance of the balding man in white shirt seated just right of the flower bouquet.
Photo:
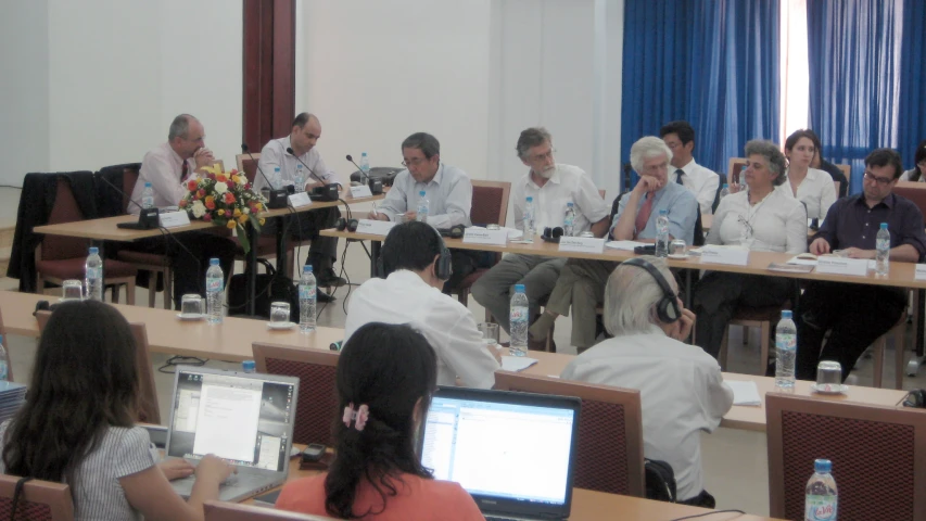
<svg viewBox="0 0 926 521">
<path fill-rule="evenodd" d="M 270 179 L 275 179 L 277 168 L 279 180 L 272 182 L 294 185 L 301 176 L 302 187 L 297 189 L 312 191 L 313 188 L 324 185 L 340 185 L 340 180 L 333 170 L 328 168 L 321 154 L 315 144 L 321 138 L 321 123 L 314 114 L 303 112 L 293 119 L 292 130 L 289 136 L 281 139 L 271 139 L 261 151 L 261 170 Z M 287 152 L 292 149 L 293 153 Z M 304 165 L 303 165 L 304 164 Z M 267 187 L 267 181 L 259 173 L 254 177 L 254 190 Z M 334 260 L 338 257 L 338 238 L 321 237 L 319 230 L 333 228 L 334 221 L 341 217 L 337 206 L 330 208 L 301 212 L 297 216 L 288 216 L 287 225 L 290 234 L 296 240 L 310 240 L 308 256 L 305 264 L 310 264 L 319 287 L 344 285 L 345 280 L 334 274 Z M 272 227 L 264 230 L 269 233 Z"/>
</svg>

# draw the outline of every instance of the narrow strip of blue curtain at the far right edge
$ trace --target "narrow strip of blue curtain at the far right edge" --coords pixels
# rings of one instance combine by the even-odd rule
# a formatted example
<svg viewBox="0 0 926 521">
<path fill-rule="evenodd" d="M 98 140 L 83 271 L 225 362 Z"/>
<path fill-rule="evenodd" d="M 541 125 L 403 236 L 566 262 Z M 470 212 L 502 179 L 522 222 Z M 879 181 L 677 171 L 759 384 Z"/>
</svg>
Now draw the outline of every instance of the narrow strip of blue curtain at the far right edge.
<svg viewBox="0 0 926 521">
<path fill-rule="evenodd" d="M 900 111 L 898 151 L 913 168 L 916 145 L 926 139 L 926 2 L 903 2 L 903 43 L 900 48 Z"/>
</svg>

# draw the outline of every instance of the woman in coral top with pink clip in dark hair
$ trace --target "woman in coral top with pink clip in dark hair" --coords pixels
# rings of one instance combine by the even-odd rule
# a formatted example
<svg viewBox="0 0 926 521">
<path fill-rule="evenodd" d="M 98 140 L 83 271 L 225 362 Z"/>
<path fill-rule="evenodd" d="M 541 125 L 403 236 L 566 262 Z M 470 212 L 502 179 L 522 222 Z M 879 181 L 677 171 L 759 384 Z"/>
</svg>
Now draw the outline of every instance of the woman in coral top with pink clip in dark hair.
<svg viewBox="0 0 926 521">
<path fill-rule="evenodd" d="M 366 521 L 482 520 L 469 494 L 434 480 L 416 450 L 436 365 L 408 326 L 359 328 L 338 360 L 334 461 L 327 474 L 288 483 L 277 508 Z"/>
</svg>

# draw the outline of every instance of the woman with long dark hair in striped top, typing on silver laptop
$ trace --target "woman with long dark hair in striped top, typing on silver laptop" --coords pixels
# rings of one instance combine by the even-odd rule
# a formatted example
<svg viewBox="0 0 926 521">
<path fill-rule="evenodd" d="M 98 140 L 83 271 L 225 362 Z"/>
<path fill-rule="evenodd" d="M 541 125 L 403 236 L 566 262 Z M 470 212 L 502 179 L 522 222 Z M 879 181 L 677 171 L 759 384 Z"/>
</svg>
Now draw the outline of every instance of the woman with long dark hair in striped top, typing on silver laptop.
<svg viewBox="0 0 926 521">
<path fill-rule="evenodd" d="M 0 425 L 0 471 L 67 483 L 76 519 L 201 520 L 231 467 L 206 456 L 190 500 L 174 492 L 135 427 L 136 344 L 126 319 L 94 301 L 52 313 L 26 402 Z"/>
</svg>

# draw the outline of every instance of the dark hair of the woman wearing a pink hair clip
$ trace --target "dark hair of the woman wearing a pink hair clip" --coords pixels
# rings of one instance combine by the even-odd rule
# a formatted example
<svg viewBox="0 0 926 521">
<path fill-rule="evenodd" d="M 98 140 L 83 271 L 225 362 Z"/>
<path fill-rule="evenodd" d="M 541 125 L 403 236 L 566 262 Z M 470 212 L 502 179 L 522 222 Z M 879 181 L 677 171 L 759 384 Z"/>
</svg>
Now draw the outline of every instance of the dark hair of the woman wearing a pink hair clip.
<svg viewBox="0 0 926 521">
<path fill-rule="evenodd" d="M 411 327 L 370 322 L 344 344 L 335 387 L 333 434 L 338 457 L 325 479 L 325 509 L 341 519 L 382 513 L 390 496 L 402 488 L 402 474 L 432 479 L 416 454 L 415 442 L 420 439 L 431 394 L 437 387 L 437 356 Z M 344 424 L 342 411 L 348 406 L 356 410 L 360 405 L 368 407 L 369 417 L 358 431 L 354 422 Z M 363 481 L 368 481 L 382 499 L 379 511 L 377 507 L 366 512 L 354 510 Z"/>
</svg>

